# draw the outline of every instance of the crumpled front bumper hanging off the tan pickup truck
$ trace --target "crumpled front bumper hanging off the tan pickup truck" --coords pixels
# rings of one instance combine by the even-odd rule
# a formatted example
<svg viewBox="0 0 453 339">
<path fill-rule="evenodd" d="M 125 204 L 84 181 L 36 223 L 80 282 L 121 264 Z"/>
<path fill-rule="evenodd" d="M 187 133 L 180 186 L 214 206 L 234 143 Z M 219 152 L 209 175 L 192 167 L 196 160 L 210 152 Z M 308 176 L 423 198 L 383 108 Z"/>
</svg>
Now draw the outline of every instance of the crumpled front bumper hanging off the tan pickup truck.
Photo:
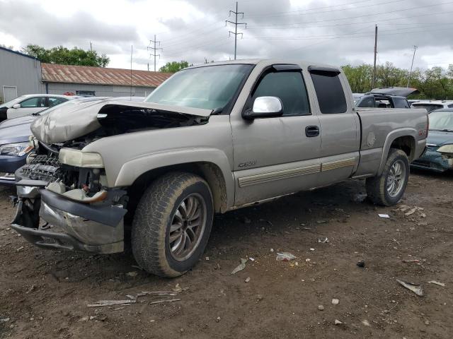
<svg viewBox="0 0 453 339">
<path fill-rule="evenodd" d="M 11 228 L 36 246 L 105 254 L 124 249 L 122 206 L 76 203 L 39 186 L 18 186 L 18 198 Z"/>
</svg>

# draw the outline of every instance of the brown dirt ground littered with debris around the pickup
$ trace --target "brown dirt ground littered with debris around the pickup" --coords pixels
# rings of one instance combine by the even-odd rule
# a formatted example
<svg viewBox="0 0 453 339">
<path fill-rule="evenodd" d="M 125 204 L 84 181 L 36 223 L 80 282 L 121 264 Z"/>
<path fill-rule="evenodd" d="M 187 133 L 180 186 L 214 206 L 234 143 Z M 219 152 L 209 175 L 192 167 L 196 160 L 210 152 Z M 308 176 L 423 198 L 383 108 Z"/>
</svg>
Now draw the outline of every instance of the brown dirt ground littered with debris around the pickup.
<svg viewBox="0 0 453 339">
<path fill-rule="evenodd" d="M 45 251 L 28 244 L 9 228 L 11 191 L 3 189 L 0 337 L 451 338 L 452 190 L 452 174 L 417 172 L 398 207 L 424 210 L 408 216 L 410 209 L 352 201 L 364 191 L 363 182 L 352 181 L 218 215 L 200 263 L 168 280 L 132 267 L 130 254 Z M 320 237 L 329 243 L 318 243 Z M 297 259 L 276 261 L 279 251 Z M 255 260 L 231 275 L 240 258 Z M 356 265 L 362 259 L 365 268 Z M 415 259 L 420 262 L 403 262 Z M 396 278 L 421 283 L 425 296 Z M 87 307 L 142 291 L 171 291 L 176 284 L 183 291 L 175 297 Z M 175 298 L 180 301 L 150 304 Z"/>
</svg>

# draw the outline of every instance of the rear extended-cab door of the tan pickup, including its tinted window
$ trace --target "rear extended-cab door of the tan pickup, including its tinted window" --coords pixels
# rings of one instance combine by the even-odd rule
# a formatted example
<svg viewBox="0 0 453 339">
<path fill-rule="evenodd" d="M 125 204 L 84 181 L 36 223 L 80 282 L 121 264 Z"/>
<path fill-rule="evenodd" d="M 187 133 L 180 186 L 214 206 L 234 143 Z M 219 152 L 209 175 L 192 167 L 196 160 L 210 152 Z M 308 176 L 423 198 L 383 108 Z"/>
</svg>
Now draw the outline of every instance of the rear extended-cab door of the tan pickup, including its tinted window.
<svg viewBox="0 0 453 339">
<path fill-rule="evenodd" d="M 352 93 L 338 69 L 309 67 L 321 124 L 321 174 L 318 186 L 350 177 L 358 165 L 360 121 Z"/>
</svg>

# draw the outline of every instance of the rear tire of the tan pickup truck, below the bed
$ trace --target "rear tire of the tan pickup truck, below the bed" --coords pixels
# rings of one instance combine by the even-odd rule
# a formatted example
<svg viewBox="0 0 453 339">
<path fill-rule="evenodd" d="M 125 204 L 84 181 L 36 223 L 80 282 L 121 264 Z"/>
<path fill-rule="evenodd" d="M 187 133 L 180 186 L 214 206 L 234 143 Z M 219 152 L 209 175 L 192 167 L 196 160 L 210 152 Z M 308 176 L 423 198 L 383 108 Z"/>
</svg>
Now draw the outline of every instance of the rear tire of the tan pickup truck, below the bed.
<svg viewBox="0 0 453 339">
<path fill-rule="evenodd" d="M 391 171 L 394 169 L 394 166 L 400 166 L 402 169 L 401 179 L 401 188 L 398 191 L 395 191 L 395 194 L 389 193 L 389 181 L 391 181 Z M 394 177 L 394 176 L 393 176 Z M 389 151 L 389 157 L 387 157 L 386 163 L 384 165 L 384 170 L 379 177 L 367 178 L 367 195 L 372 203 L 382 206 L 393 206 L 398 201 L 406 190 L 409 178 L 409 160 L 406 153 L 403 150 L 398 150 L 396 148 L 391 148 Z"/>
</svg>

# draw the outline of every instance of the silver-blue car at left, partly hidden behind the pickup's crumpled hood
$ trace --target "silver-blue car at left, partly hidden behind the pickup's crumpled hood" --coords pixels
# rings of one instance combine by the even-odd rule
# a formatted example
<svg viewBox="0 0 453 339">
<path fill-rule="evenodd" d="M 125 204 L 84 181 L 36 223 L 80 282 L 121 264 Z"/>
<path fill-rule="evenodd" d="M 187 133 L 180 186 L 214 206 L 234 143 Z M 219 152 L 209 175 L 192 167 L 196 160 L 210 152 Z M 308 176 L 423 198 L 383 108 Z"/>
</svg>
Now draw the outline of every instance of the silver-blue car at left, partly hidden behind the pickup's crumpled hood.
<svg viewBox="0 0 453 339">
<path fill-rule="evenodd" d="M 83 102 L 99 100 L 143 101 L 144 97 L 83 97 L 69 100 L 58 106 L 25 117 L 8 119 L 0 123 L 0 185 L 13 185 L 16 182 L 14 172 L 25 165 L 28 154 L 33 150 L 30 146 L 30 125 L 42 114 L 47 114 L 64 105 L 79 105 Z"/>
</svg>

